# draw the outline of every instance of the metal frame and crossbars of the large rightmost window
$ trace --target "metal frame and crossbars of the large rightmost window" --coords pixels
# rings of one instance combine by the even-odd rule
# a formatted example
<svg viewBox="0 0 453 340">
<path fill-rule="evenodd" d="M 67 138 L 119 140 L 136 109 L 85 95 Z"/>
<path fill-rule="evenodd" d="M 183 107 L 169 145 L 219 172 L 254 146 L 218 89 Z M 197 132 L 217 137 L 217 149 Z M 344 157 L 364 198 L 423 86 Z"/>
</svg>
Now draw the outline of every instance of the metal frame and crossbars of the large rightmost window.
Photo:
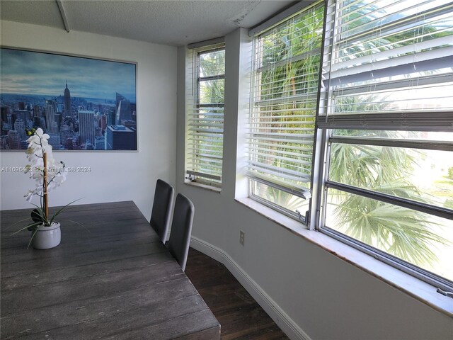
<svg viewBox="0 0 453 340">
<path fill-rule="evenodd" d="M 359 140 L 354 137 L 341 137 L 341 136 L 332 136 L 333 129 L 347 129 L 347 130 L 406 130 L 406 131 L 446 131 L 446 132 L 453 132 L 452 128 L 448 128 L 448 123 L 451 122 L 452 113 L 448 111 L 428 111 L 428 112 L 414 112 L 411 111 L 410 115 L 403 115 L 402 113 L 398 112 L 389 112 L 389 113 L 365 113 L 364 115 L 357 115 L 357 114 L 339 114 L 339 115 L 329 115 L 329 110 L 332 105 L 332 100 L 330 97 L 330 87 L 333 86 L 333 82 L 338 81 L 336 78 L 331 78 L 331 58 L 335 53 L 333 50 L 333 44 L 335 43 L 334 40 L 334 28 L 335 22 L 337 20 L 337 8 L 333 10 L 332 3 L 336 3 L 337 1 L 330 1 L 329 6 L 327 6 L 328 13 L 325 16 L 325 21 L 331 23 L 330 26 L 326 27 L 325 29 L 325 45 L 328 45 L 326 48 L 328 49 L 327 53 L 324 55 L 328 55 L 326 59 L 323 60 L 323 69 L 325 70 L 328 76 L 324 76 L 325 86 L 324 91 L 320 93 L 320 102 L 323 101 L 324 106 L 320 108 L 318 113 L 318 120 L 316 124 L 316 128 L 319 130 L 319 134 L 321 135 L 321 142 L 319 142 L 316 147 L 321 149 L 321 157 L 319 157 L 319 163 L 323 164 L 319 168 L 319 188 L 321 195 L 318 198 L 316 204 L 316 224 L 314 228 L 322 232 L 323 234 L 328 235 L 334 239 L 337 239 L 340 242 L 348 244 L 355 249 L 359 249 L 363 251 L 365 254 L 369 254 L 374 256 L 375 258 L 387 263 L 398 270 L 403 271 L 404 273 L 408 273 L 415 278 L 419 278 L 420 280 L 429 283 L 430 285 L 434 285 L 438 289 L 441 290 L 453 290 L 453 282 L 448 280 L 447 278 L 443 278 L 435 273 L 431 273 L 419 266 L 416 266 L 413 263 L 409 263 L 408 261 L 404 261 L 402 259 L 397 258 L 385 251 L 375 248 L 369 244 L 365 244 L 365 242 L 361 242 L 357 239 L 353 239 L 349 237 L 347 234 L 343 234 L 341 232 L 336 231 L 335 229 L 331 229 L 326 226 L 326 212 L 327 212 L 327 201 L 328 201 L 328 189 L 336 189 L 346 193 L 352 193 L 357 196 L 370 198 L 372 200 L 377 200 L 383 203 L 390 203 L 392 205 L 397 205 L 403 208 L 408 208 L 411 210 L 425 212 L 433 216 L 437 217 L 444 217 L 449 220 L 453 220 L 453 211 L 447 208 L 442 208 L 437 205 L 430 205 L 428 203 L 421 203 L 414 200 L 410 200 L 408 198 L 398 198 L 396 196 L 391 196 L 386 193 L 378 193 L 376 191 L 372 191 L 371 189 L 359 188 L 356 186 L 348 186 L 344 183 L 338 183 L 336 181 L 331 181 L 328 178 L 328 171 L 330 169 L 330 149 L 332 143 L 346 143 L 350 142 L 351 145 L 373 145 L 373 146 L 382 146 L 382 147 L 408 147 L 408 148 L 423 148 L 423 149 L 433 149 L 433 150 L 447 150 L 453 152 L 453 143 L 452 142 L 415 142 L 415 141 L 407 141 L 407 140 L 379 140 L 379 139 L 372 139 L 362 137 L 362 140 Z M 335 6 L 335 5 L 334 5 Z M 329 43 L 330 42 L 330 43 Z M 433 60 L 425 60 L 425 66 L 429 66 L 428 64 L 431 62 L 432 64 L 435 63 L 437 59 Z M 420 62 L 419 62 L 420 63 Z M 403 73 L 401 69 L 406 67 L 406 65 L 396 65 L 393 67 L 391 72 L 396 73 Z M 398 72 L 398 68 L 400 72 Z M 384 71 L 386 72 L 386 71 Z M 347 77 L 356 77 L 355 74 Z M 366 87 L 366 85 L 362 86 Z M 333 90 L 336 91 L 336 90 Z M 322 99 L 321 99 L 322 97 Z M 450 123 L 451 124 L 451 123 Z M 314 211 L 312 210 L 312 213 Z"/>
</svg>

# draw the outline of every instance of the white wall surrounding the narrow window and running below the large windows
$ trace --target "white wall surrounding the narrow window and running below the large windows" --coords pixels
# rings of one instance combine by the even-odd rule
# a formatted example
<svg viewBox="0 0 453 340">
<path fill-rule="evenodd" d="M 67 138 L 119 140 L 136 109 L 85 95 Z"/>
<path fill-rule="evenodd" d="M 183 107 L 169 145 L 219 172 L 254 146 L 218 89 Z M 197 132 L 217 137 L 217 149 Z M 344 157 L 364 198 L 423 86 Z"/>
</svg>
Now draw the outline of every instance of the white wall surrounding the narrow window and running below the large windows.
<svg viewBox="0 0 453 340">
<path fill-rule="evenodd" d="M 241 87 L 246 79 L 235 70 L 244 67 L 239 43 L 246 40 L 241 29 L 226 37 L 222 193 L 183 183 L 185 51 L 178 50 L 176 189 L 195 205 L 193 236 L 222 249 L 311 339 L 452 339 L 453 322 L 447 315 L 234 200 L 237 124 L 246 107 L 236 97 L 247 95 Z M 244 246 L 240 229 L 246 233 Z"/>
</svg>

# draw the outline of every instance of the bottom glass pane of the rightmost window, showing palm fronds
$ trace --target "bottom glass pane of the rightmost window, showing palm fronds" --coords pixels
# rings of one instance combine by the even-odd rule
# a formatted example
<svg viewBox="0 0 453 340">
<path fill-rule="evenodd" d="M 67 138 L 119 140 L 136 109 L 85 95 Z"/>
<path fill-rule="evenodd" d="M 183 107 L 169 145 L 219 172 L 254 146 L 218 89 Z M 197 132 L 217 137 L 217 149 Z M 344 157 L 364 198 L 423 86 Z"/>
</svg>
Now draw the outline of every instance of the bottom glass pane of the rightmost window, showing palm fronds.
<svg viewBox="0 0 453 340">
<path fill-rule="evenodd" d="M 326 226 L 453 280 L 453 222 L 328 189 Z"/>
</svg>

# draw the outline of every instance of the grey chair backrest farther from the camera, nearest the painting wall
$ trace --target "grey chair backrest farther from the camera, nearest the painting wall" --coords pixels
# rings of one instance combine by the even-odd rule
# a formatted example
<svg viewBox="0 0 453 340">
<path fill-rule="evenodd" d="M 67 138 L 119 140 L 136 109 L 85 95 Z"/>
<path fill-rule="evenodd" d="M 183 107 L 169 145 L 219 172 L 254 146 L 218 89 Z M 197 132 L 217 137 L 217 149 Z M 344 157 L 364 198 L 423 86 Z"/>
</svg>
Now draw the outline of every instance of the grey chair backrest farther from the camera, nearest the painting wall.
<svg viewBox="0 0 453 340">
<path fill-rule="evenodd" d="M 162 243 L 165 243 L 167 239 L 174 196 L 175 189 L 173 186 L 158 179 L 156 191 L 154 191 L 153 210 L 151 211 L 149 224 L 156 230 Z"/>
</svg>

